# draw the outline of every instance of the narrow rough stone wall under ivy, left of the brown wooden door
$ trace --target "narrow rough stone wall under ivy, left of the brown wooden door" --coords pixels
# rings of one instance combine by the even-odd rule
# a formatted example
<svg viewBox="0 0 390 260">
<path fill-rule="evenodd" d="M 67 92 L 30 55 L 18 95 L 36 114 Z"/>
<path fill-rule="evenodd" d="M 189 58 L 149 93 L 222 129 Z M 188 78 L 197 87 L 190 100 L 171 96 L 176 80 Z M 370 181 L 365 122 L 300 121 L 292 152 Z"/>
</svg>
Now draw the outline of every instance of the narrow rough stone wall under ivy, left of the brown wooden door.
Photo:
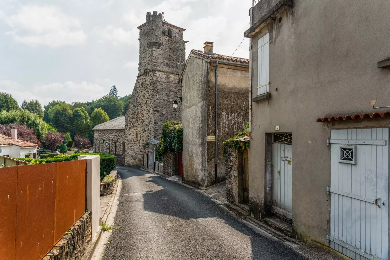
<svg viewBox="0 0 390 260">
<path fill-rule="evenodd" d="M 225 148 L 226 199 L 238 205 L 238 152 Z"/>
</svg>

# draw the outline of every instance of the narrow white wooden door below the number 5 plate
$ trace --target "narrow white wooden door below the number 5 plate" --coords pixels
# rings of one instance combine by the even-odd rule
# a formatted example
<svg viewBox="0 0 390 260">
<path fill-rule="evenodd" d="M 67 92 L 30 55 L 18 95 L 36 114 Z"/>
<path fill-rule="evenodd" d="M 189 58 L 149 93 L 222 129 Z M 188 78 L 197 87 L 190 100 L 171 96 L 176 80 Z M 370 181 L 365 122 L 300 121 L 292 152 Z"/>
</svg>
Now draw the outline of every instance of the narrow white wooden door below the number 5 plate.
<svg viewBox="0 0 390 260">
<path fill-rule="evenodd" d="M 273 212 L 291 219 L 292 215 L 292 144 L 272 145 Z"/>
</svg>

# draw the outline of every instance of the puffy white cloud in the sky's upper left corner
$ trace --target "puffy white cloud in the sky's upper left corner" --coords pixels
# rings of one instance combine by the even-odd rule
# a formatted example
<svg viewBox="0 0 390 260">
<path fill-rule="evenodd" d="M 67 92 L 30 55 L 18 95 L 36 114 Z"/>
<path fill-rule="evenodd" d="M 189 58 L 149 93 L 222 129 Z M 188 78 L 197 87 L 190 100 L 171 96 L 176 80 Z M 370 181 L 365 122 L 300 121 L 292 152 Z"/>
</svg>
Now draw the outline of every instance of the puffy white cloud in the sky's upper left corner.
<svg viewBox="0 0 390 260">
<path fill-rule="evenodd" d="M 18 14 L 7 18 L 7 23 L 12 28 L 7 34 L 30 46 L 80 45 L 87 39 L 80 21 L 66 16 L 54 5 L 25 5 Z"/>
</svg>

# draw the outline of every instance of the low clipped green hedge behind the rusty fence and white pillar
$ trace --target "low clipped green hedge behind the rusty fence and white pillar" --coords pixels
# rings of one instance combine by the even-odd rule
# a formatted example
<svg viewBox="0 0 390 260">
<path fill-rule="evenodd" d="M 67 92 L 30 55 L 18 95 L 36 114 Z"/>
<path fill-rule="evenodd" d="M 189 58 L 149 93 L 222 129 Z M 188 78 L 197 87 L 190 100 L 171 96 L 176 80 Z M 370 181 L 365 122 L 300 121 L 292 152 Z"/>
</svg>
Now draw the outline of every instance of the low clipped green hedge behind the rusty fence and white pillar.
<svg viewBox="0 0 390 260">
<path fill-rule="evenodd" d="M 110 153 L 74 153 L 72 155 L 63 155 L 63 154 L 56 155 L 54 158 L 47 157 L 41 159 L 31 159 L 31 158 L 16 158 L 16 159 L 39 164 L 39 163 L 64 162 L 64 161 L 77 160 L 77 157 L 79 157 L 80 155 L 99 155 L 100 180 L 103 180 L 103 178 L 106 175 L 109 175 L 111 171 L 115 169 L 115 167 L 117 167 L 117 159 L 115 158 L 115 155 L 112 155 Z"/>
</svg>

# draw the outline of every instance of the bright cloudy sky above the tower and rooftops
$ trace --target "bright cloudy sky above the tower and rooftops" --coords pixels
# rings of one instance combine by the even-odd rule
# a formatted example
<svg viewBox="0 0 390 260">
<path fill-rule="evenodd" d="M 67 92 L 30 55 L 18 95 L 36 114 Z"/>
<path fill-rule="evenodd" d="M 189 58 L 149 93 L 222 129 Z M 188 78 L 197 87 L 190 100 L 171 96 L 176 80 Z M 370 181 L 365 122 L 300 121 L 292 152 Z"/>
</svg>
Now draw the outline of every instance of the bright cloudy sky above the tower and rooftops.
<svg viewBox="0 0 390 260">
<path fill-rule="evenodd" d="M 138 72 L 137 26 L 150 11 L 182 28 L 186 53 L 214 41 L 232 55 L 248 28 L 251 0 L 0 0 L 0 92 L 19 104 L 86 102 L 116 85 L 131 94 Z M 248 58 L 244 39 L 234 53 Z"/>
</svg>

